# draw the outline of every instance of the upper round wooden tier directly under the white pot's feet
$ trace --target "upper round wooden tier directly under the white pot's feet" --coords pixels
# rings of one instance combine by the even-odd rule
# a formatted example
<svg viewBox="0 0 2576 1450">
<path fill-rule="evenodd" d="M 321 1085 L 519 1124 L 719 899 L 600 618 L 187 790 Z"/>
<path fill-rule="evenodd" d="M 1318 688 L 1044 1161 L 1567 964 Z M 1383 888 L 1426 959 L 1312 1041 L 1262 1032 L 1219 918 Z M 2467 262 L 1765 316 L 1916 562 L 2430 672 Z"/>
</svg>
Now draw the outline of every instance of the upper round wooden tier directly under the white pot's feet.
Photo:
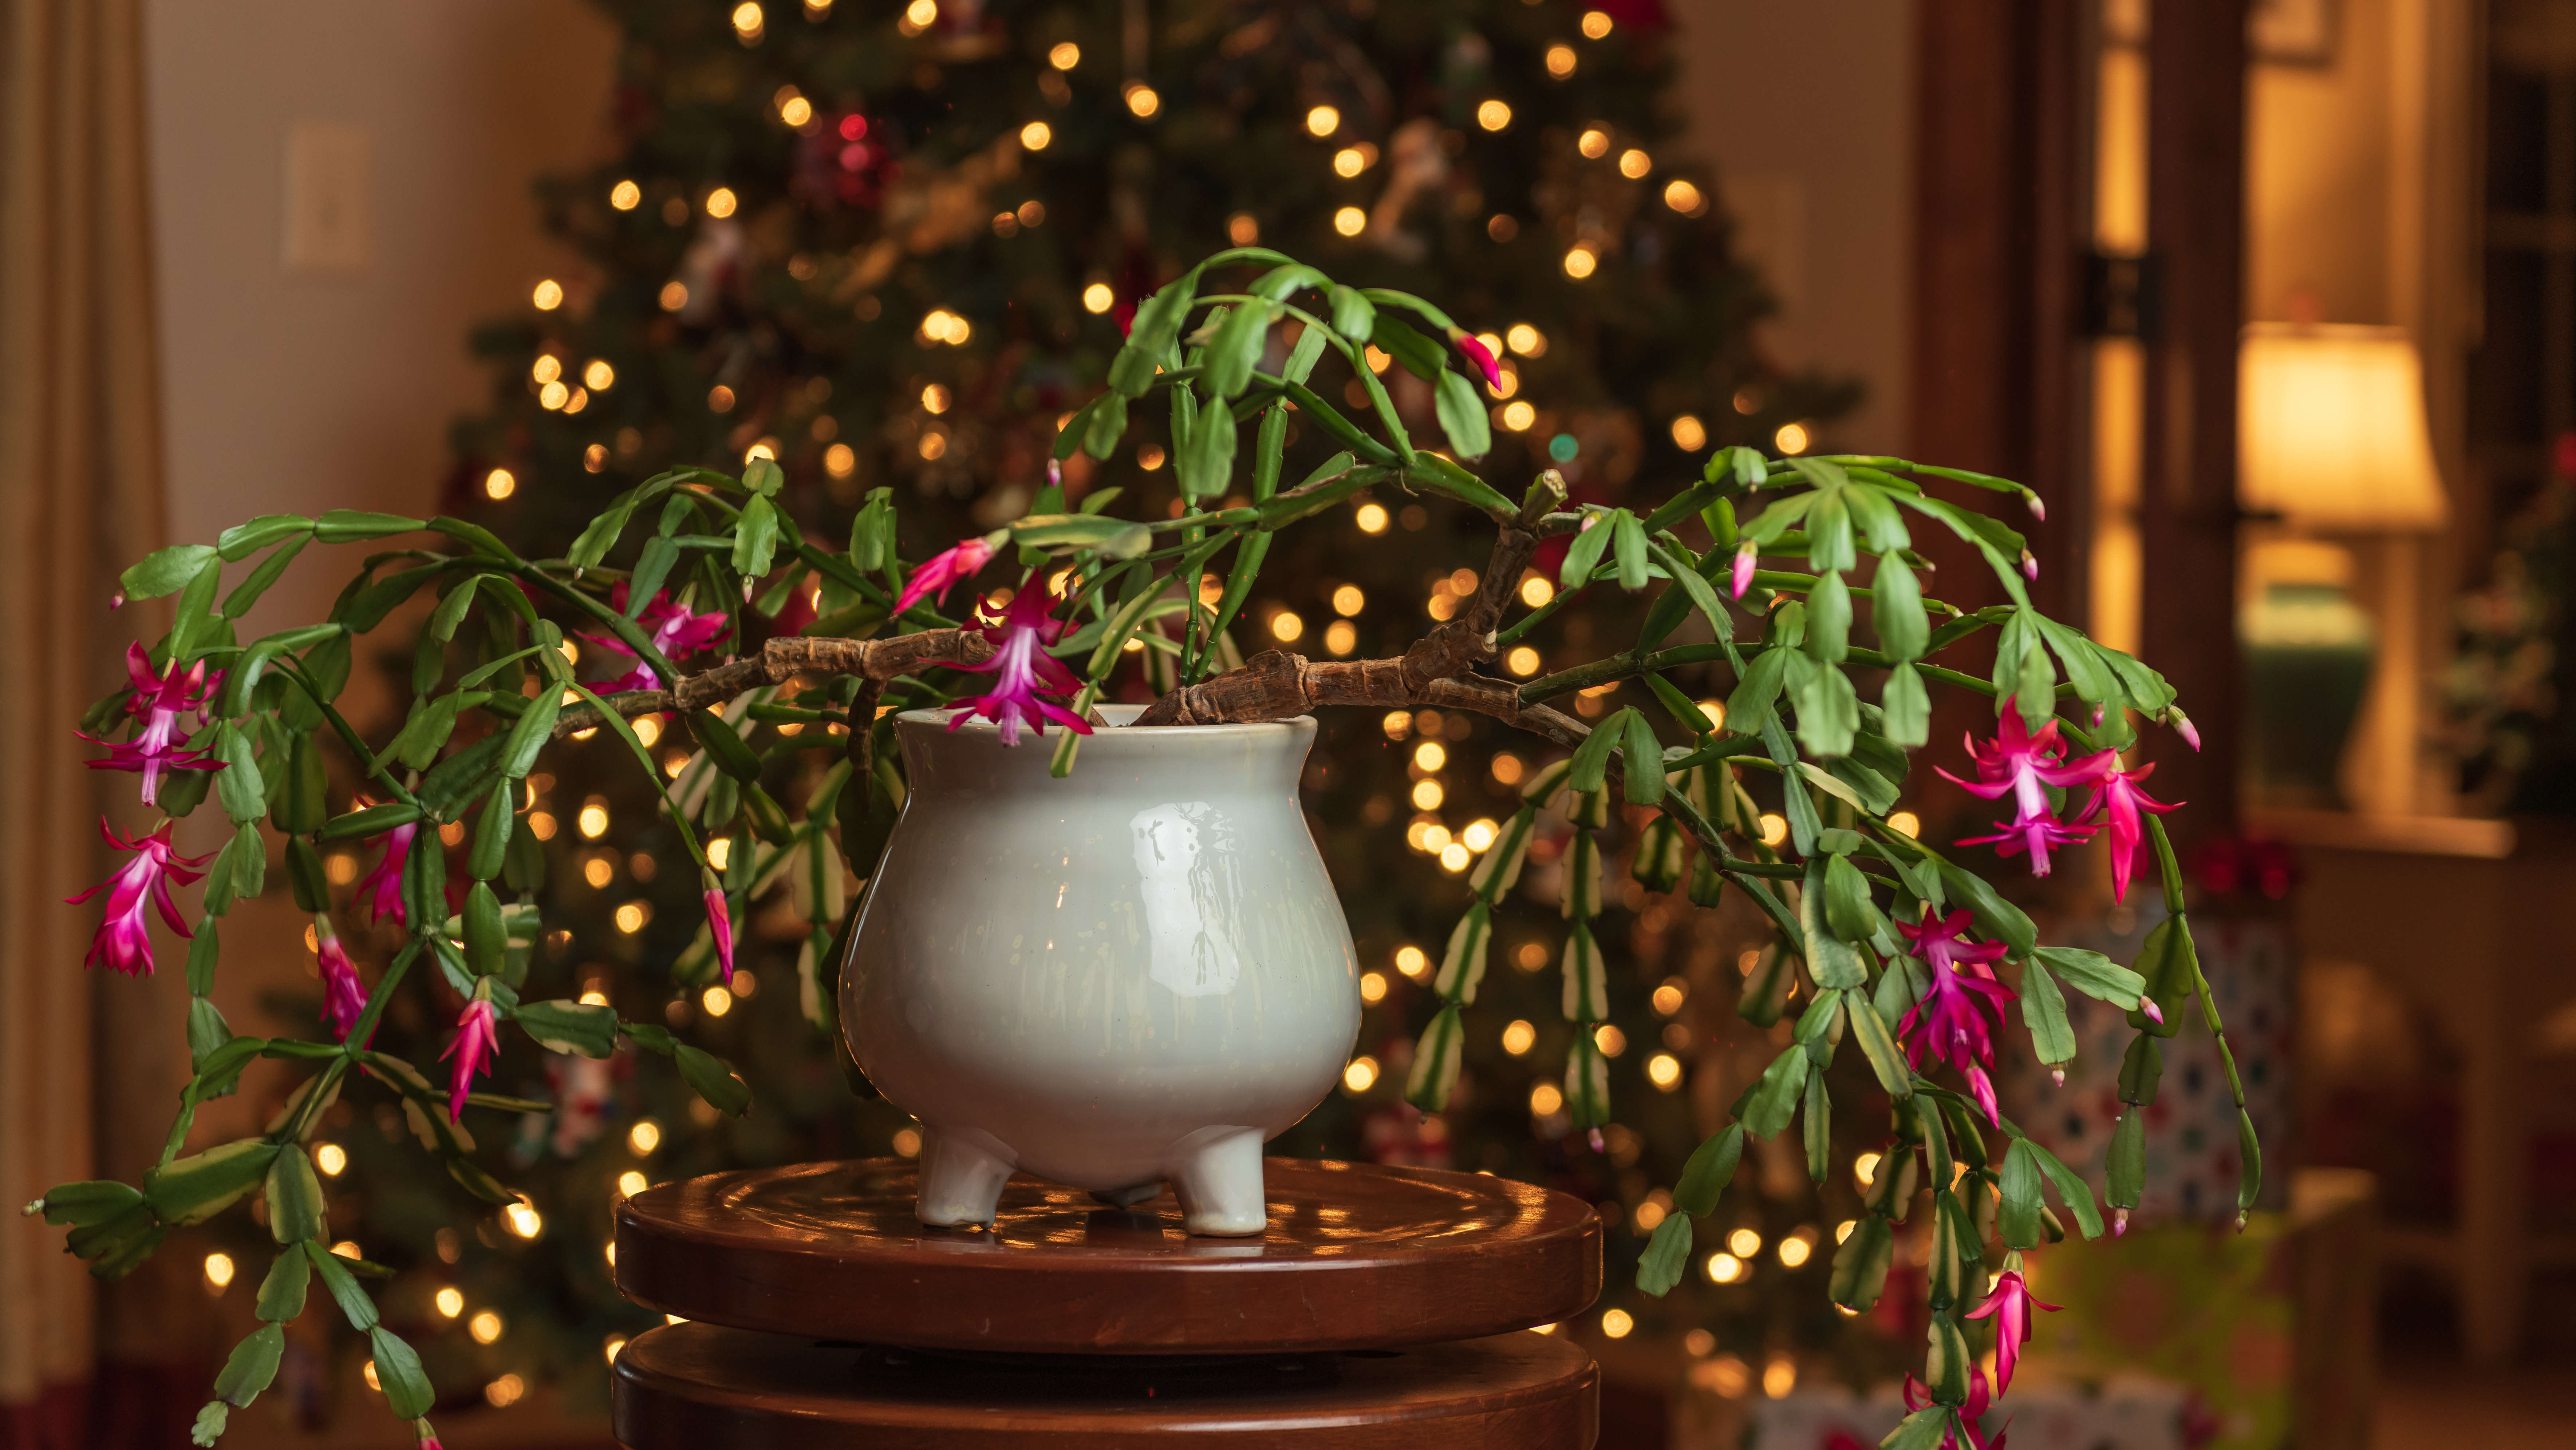
<svg viewBox="0 0 2576 1450">
<path fill-rule="evenodd" d="M 618 1290 L 770 1334 L 1033 1355 L 1270 1355 L 1473 1339 L 1582 1313 L 1592 1205 L 1484 1174 L 1270 1159 L 1270 1231 L 1193 1239 L 1015 1180 L 994 1229 L 925 1229 L 907 1159 L 724 1172 L 618 1205 Z"/>
</svg>

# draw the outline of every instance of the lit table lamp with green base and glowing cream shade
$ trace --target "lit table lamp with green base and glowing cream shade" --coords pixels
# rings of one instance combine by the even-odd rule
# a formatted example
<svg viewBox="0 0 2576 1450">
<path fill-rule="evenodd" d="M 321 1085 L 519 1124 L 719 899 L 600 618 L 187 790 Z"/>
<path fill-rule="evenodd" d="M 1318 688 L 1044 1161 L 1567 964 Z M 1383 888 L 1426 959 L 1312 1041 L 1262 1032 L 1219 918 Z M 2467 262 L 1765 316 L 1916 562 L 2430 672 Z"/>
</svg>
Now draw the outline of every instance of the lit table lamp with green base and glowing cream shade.
<svg viewBox="0 0 2576 1450">
<path fill-rule="evenodd" d="M 2316 536 L 2442 528 L 2414 340 L 2398 327 L 2246 327 L 2236 469 L 2239 502 L 2282 525 L 2249 551 L 2254 587 L 2236 621 L 2254 786 L 2280 806 L 2339 806 L 2378 636 L 2344 592 L 2352 554 Z"/>
</svg>

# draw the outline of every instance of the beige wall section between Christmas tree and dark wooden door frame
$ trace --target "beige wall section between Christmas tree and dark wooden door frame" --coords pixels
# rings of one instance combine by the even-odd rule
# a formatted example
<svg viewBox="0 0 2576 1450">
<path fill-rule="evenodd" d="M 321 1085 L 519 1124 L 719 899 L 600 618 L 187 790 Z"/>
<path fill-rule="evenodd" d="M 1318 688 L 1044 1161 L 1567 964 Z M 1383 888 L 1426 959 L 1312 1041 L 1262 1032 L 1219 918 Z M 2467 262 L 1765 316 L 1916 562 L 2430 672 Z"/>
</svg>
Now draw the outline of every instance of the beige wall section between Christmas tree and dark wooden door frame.
<svg viewBox="0 0 2576 1450">
<path fill-rule="evenodd" d="M 1834 446 L 1904 451 L 1914 0 L 1672 0 L 1692 147 L 1772 278 L 1783 363 L 1870 397 Z"/>
</svg>

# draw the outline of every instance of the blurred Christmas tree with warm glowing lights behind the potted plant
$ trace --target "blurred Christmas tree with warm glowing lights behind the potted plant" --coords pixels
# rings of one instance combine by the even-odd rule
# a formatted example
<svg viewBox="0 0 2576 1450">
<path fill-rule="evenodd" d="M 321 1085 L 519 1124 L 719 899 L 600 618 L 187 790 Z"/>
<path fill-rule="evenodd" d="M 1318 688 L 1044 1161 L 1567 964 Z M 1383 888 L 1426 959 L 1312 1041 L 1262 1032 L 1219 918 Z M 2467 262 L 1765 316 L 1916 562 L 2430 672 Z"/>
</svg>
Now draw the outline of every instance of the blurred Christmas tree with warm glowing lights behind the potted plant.
<svg viewBox="0 0 2576 1450">
<path fill-rule="evenodd" d="M 1762 361 L 1759 281 L 1728 252 L 1710 175 L 1669 149 L 1680 118 L 1654 0 L 605 8 L 626 36 L 623 152 L 544 183 L 546 227 L 582 265 L 474 335 L 495 363 L 492 407 L 456 428 L 451 507 L 531 554 L 559 554 L 611 494 L 667 466 L 739 466 L 752 453 L 783 466 L 781 502 L 817 538 L 845 533 L 871 489 L 904 497 L 920 531 L 902 541 L 907 559 L 1018 518 L 1046 484 L 1059 417 L 1100 389 L 1133 304 L 1229 240 L 1455 304 L 1504 358 L 1481 471 L 1512 494 L 1556 466 L 1574 497 L 1615 502 L 1641 471 L 1698 474 L 1716 446 L 1801 451 L 1855 397 Z M 1437 433 L 1430 389 L 1370 361 L 1396 407 Z M 1332 366 L 1319 391 L 1365 394 Z M 1327 440 L 1291 430 L 1291 476 L 1324 453 Z M 1072 458 L 1064 487 L 1072 500 L 1128 489 L 1177 513 L 1164 464 L 1164 446 L 1141 440 L 1108 464 Z M 1340 525 L 1283 543 L 1298 556 L 1267 577 L 1293 592 L 1255 600 L 1239 646 L 1401 652 L 1422 610 L 1445 618 L 1484 564 L 1481 520 L 1458 523 L 1450 533 L 1450 518 L 1419 502 L 1363 494 Z M 1553 554 L 1525 603 L 1546 603 Z M 775 603 L 781 631 L 811 623 L 801 590 Z M 1579 649 L 1620 628 L 1636 621 L 1587 605 L 1543 623 L 1504 664 L 1535 675 L 1551 644 Z M 1613 706 L 1582 701 L 1587 716 Z M 659 742 L 675 767 L 683 744 Z M 440 1386 L 559 1378 L 649 1321 L 616 1298 L 603 1254 L 621 1180 L 917 1146 L 902 1113 L 842 1087 L 817 1030 L 829 1010 L 814 999 L 811 958 L 824 945 L 817 922 L 840 907 L 837 863 L 822 899 L 791 873 L 799 891 L 747 927 L 734 994 L 708 989 L 690 943 L 696 878 L 657 871 L 654 801 L 616 783 L 613 749 L 598 747 L 595 778 L 577 778 L 587 762 L 574 757 L 562 778 L 531 780 L 559 822 L 554 909 L 574 922 L 538 945 L 541 971 L 611 994 L 626 1015 L 688 1025 L 742 1066 L 757 1105 L 719 1123 L 690 1113 L 659 1059 L 556 1059 L 549 1071 L 569 1077 L 551 1087 L 567 1105 L 528 1118 L 513 1146 L 513 1187 L 541 1210 L 533 1241 L 526 1216 L 495 1216 L 479 1241 L 459 1244 L 399 1198 L 366 1205 L 368 1252 L 420 1270 L 407 1275 L 420 1319 L 464 1329 L 425 1344 Z M 1432 956 L 1466 901 L 1458 873 L 1535 765 L 1530 742 L 1466 716 L 1324 721 L 1306 801 L 1347 891 L 1373 1007 L 1345 1095 L 1275 1151 L 1494 1169 L 1651 1229 L 1662 1205 L 1641 1198 L 1646 1185 L 1672 1182 L 1695 1118 L 1741 1087 L 1718 1025 L 1734 1025 L 1749 922 L 1731 932 L 1723 914 L 1641 886 L 1610 901 L 1605 940 L 1636 948 L 1613 956 L 1618 1020 L 1605 1030 L 1623 1120 L 1600 1144 L 1569 1136 L 1548 1087 L 1571 1028 L 1553 971 L 1540 971 L 1561 945 L 1543 845 L 1499 912 L 1497 963 L 1520 971 L 1489 979 L 1461 1100 L 1445 1120 L 1399 1102 L 1432 1010 Z M 811 780 L 770 788 L 801 801 Z M 1553 824 L 1561 842 L 1566 827 Z M 1752 1028 L 1734 1035 L 1759 1046 Z M 546 1087 L 536 1064 L 502 1069 L 533 1095 Z M 415 1162 L 386 1159 L 379 1172 Z M 1780 1216 L 1744 1229 L 1780 1265 L 1821 1272 L 1832 1252 L 1816 1241 L 1852 1210 L 1816 1205 L 1803 1169 L 1770 1177 L 1785 1185 Z M 1795 1229 L 1806 1247 L 1780 1252 Z M 1643 1239 L 1610 1241 L 1610 1283 L 1625 1285 Z M 446 1288 L 459 1293 L 440 1298 Z M 1821 1293 L 1798 1301 L 1801 1316 L 1824 1306 Z M 484 1311 L 500 1321 L 479 1321 Z M 1656 1316 L 1680 1329 L 1708 1311 L 1677 1295 Z M 1821 1326 L 1757 1319 L 1736 1316 L 1726 1342 L 1752 1355 L 1834 1329 L 1832 1313 Z"/>
</svg>

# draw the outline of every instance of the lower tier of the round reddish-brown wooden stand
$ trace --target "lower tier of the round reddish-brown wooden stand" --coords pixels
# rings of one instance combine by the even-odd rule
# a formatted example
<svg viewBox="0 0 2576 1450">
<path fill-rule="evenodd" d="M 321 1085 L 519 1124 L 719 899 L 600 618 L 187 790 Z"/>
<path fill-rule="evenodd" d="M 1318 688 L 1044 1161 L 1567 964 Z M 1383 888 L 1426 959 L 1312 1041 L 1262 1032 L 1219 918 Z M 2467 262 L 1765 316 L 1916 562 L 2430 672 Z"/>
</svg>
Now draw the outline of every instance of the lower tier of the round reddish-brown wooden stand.
<svg viewBox="0 0 2576 1450">
<path fill-rule="evenodd" d="M 629 1450 L 1589 1450 L 1600 1427 L 1600 1370 L 1556 1334 L 1224 1365 L 997 1360 L 675 1324 L 618 1352 L 611 1424 Z"/>
</svg>

